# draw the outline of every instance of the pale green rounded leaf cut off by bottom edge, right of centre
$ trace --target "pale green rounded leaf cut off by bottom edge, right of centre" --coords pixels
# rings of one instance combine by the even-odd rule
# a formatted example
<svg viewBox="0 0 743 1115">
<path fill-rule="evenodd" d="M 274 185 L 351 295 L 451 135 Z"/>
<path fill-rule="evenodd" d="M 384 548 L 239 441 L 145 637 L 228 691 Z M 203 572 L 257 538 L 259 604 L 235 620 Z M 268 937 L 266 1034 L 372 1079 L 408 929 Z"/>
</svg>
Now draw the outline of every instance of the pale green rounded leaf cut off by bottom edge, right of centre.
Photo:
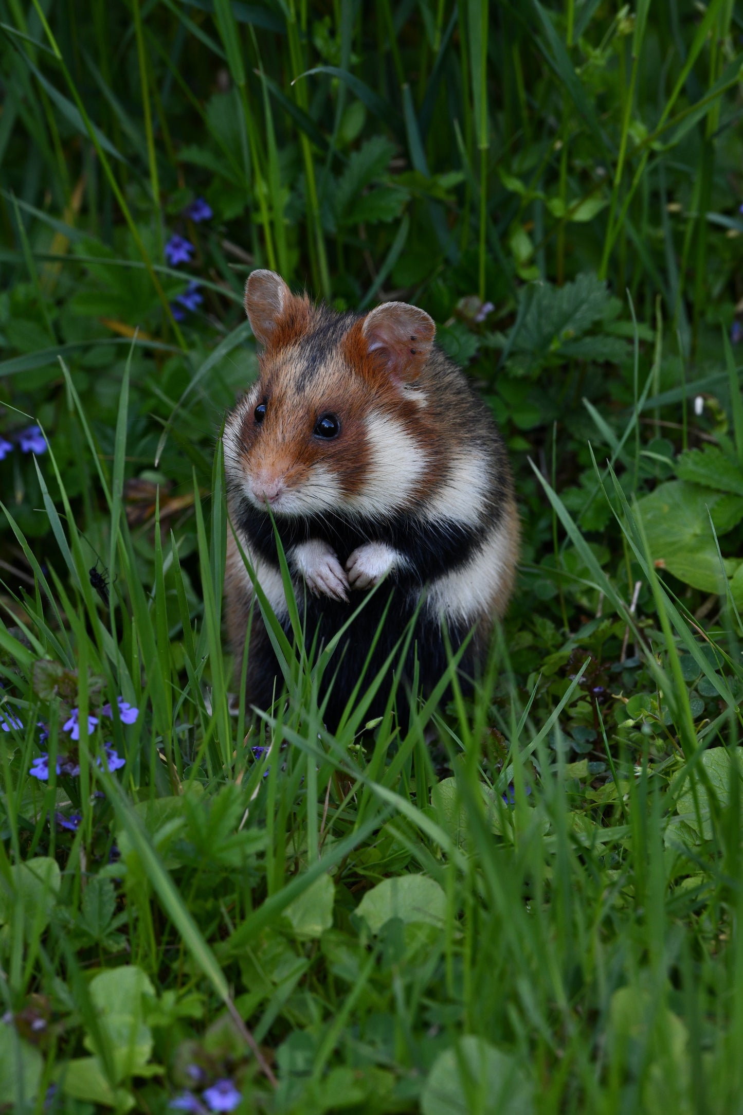
<svg viewBox="0 0 743 1115">
<path fill-rule="evenodd" d="M 439 1054 L 421 1095 L 423 1115 L 531 1115 L 532 1088 L 509 1054 L 470 1034 Z"/>
</svg>

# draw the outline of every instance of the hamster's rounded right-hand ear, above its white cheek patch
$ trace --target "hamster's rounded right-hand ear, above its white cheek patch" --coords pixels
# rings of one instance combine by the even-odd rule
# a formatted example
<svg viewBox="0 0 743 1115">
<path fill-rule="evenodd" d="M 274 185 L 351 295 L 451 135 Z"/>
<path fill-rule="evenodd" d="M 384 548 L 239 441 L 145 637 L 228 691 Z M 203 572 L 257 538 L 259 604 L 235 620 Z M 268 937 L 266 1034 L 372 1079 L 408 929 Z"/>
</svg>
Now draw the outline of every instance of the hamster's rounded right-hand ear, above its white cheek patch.
<svg viewBox="0 0 743 1115">
<path fill-rule="evenodd" d="M 418 379 L 429 358 L 436 326 L 426 310 L 405 302 L 382 302 L 361 327 L 368 351 L 403 382 Z"/>
</svg>

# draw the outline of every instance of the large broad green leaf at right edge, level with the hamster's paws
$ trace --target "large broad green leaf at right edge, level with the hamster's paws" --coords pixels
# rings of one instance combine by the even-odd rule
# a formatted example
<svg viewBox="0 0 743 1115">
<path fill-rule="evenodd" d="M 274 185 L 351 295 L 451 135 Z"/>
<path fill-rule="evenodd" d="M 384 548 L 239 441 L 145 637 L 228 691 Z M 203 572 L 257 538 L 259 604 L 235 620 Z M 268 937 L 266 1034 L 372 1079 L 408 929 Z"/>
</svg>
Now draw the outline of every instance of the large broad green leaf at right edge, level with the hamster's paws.
<svg viewBox="0 0 743 1115">
<path fill-rule="evenodd" d="M 725 534 L 743 517 L 743 497 L 668 481 L 637 504 L 653 560 L 685 584 L 722 592 L 724 584 L 707 507 L 715 531 Z"/>
</svg>

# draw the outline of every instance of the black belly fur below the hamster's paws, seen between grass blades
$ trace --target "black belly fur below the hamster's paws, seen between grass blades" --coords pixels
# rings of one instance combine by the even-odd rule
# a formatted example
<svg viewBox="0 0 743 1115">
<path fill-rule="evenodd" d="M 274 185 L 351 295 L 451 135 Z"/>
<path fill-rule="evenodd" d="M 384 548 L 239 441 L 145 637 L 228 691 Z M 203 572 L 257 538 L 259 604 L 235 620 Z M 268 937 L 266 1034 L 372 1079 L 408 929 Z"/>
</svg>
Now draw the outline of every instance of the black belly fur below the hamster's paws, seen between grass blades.
<svg viewBox="0 0 743 1115">
<path fill-rule="evenodd" d="M 366 605 L 349 628 L 333 653 L 320 686 L 321 705 L 330 689 L 330 697 L 324 715 L 324 721 L 330 731 L 334 731 L 338 728 L 348 699 L 353 692 L 361 671 L 364 668 L 369 648 L 377 634 L 385 609 L 387 617 L 384 624 L 364 673 L 360 696 L 363 696 L 366 691 L 375 675 L 392 652 L 395 643 L 405 634 L 408 624 L 416 613 L 417 595 L 418 593 L 410 593 L 400 586 L 388 588 L 388 584 L 382 584 L 368 600 Z M 305 644 L 307 649 L 312 647 L 316 636 L 316 652 L 319 655 L 322 647 L 327 644 L 335 632 L 346 622 L 349 615 L 358 608 L 359 603 L 359 593 L 353 593 L 351 602 L 348 604 L 329 600 L 325 597 L 311 597 L 307 593 L 305 601 L 300 601 L 300 614 L 304 621 Z M 272 704 L 274 692 L 276 696 L 281 694 L 283 679 L 273 648 L 265 633 L 265 629 L 263 629 L 263 620 L 260 614 L 255 615 L 253 622 L 254 624 L 260 624 L 262 630 L 256 632 L 257 639 L 252 644 L 252 651 L 256 660 L 255 662 L 248 662 L 246 702 L 248 706 L 255 705 L 257 708 L 266 709 Z M 289 620 L 283 626 L 291 639 L 292 632 Z M 453 653 L 460 647 L 467 634 L 467 629 L 460 629 L 456 626 L 449 627 L 448 633 Z M 397 672 L 399 669 L 399 656 L 402 646 L 404 646 L 404 640 L 393 659 L 392 667 L 371 702 L 365 715 L 366 719 L 373 719 L 374 717 L 382 716 L 384 712 L 392 687 L 392 675 L 393 671 Z M 420 689 L 426 696 L 443 676 L 448 666 L 448 659 L 440 623 L 422 611 L 419 612 L 416 620 L 413 637 L 410 641 L 410 648 L 397 689 L 398 714 L 402 718 L 407 715 L 408 690 L 413 679 L 416 659 L 418 660 Z M 467 688 L 467 678 L 471 673 L 472 667 L 473 653 L 472 643 L 470 642 L 458 668 L 460 673 L 463 675 L 462 681 L 465 688 Z"/>
</svg>

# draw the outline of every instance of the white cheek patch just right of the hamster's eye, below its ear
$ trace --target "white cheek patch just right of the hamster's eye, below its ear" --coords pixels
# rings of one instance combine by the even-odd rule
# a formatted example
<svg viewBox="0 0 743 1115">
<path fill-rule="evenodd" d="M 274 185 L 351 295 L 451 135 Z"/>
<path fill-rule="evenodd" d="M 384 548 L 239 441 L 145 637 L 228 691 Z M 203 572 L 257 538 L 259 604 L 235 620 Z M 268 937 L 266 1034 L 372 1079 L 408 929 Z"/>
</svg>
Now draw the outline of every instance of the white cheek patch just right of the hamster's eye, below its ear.
<svg viewBox="0 0 743 1115">
<path fill-rule="evenodd" d="M 345 505 L 362 515 L 387 517 L 416 497 L 418 479 L 426 471 L 426 454 L 401 423 L 389 415 L 372 414 L 365 420 L 371 464 L 364 486 Z"/>
</svg>

